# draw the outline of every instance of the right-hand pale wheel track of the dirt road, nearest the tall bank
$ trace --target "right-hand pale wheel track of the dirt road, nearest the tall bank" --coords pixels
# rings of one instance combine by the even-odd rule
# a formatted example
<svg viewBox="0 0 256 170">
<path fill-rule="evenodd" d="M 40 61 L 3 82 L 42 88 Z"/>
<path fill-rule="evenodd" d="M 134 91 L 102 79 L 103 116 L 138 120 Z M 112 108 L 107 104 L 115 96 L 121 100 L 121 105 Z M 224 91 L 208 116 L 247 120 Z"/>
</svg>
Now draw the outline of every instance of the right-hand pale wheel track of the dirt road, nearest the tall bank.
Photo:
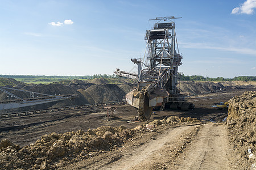
<svg viewBox="0 0 256 170">
<path fill-rule="evenodd" d="M 232 169 L 228 144 L 224 125 L 205 124 L 185 152 L 178 169 Z"/>
</svg>

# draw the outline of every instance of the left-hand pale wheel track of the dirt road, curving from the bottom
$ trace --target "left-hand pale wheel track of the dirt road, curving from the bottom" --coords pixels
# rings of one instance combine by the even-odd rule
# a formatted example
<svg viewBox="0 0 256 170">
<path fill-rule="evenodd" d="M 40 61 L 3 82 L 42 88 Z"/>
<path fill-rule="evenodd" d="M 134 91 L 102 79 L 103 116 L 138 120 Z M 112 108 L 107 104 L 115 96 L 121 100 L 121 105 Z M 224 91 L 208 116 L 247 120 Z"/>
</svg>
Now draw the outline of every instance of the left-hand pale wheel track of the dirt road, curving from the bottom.
<svg viewBox="0 0 256 170">
<path fill-rule="evenodd" d="M 121 159 L 101 169 L 134 169 L 141 163 L 150 162 L 148 158 L 163 148 L 166 143 L 176 143 L 179 141 L 181 135 L 192 129 L 194 129 L 193 126 L 180 126 L 178 128 L 168 129 L 163 134 L 156 136 L 155 140 L 126 152 Z"/>
</svg>

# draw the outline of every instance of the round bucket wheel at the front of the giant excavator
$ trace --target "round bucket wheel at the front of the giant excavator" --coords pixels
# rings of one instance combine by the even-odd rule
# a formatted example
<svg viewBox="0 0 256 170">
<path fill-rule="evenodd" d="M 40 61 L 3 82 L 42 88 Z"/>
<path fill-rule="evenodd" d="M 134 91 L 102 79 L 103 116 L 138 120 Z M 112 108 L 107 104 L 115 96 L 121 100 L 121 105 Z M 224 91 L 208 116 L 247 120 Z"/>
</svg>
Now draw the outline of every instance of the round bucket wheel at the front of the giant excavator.
<svg viewBox="0 0 256 170">
<path fill-rule="evenodd" d="M 147 92 L 142 91 L 139 96 L 139 118 L 141 120 L 149 120 L 153 107 L 149 107 L 149 97 Z"/>
</svg>

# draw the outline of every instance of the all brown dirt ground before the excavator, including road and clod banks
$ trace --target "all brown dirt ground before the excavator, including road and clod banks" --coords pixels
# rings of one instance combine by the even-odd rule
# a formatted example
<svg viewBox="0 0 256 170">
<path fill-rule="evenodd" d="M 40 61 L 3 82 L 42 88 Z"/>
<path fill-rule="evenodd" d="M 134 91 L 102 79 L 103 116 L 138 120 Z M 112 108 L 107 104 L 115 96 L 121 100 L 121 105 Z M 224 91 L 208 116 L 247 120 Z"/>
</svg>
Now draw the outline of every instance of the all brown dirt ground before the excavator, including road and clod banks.
<svg viewBox="0 0 256 170">
<path fill-rule="evenodd" d="M 256 95 L 248 85 L 201 90 L 188 98 L 192 111 L 155 111 L 147 122 L 121 104 L 110 120 L 104 106 L 2 117 L 0 168 L 250 169 Z M 229 114 L 211 107 L 228 100 Z"/>
</svg>

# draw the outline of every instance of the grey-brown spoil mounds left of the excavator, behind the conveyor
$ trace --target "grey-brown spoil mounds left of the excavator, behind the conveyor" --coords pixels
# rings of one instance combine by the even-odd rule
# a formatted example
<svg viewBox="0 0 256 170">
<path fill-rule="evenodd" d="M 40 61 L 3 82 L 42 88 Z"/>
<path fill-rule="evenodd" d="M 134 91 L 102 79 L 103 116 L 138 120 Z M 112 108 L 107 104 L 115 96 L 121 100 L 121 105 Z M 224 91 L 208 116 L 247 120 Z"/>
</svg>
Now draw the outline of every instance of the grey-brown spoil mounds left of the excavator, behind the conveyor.
<svg viewBox="0 0 256 170">
<path fill-rule="evenodd" d="M 28 90 L 33 92 L 39 92 L 48 95 L 67 95 L 78 94 L 78 97 L 74 100 L 62 100 L 47 104 L 34 105 L 28 108 L 14 109 L 9 112 L 37 110 L 46 108 L 59 108 L 70 105 L 84 105 L 94 103 L 104 103 L 109 101 L 122 101 L 123 96 L 131 90 L 133 83 L 129 80 L 108 80 L 104 78 L 97 78 L 93 80 L 65 80 L 61 82 L 51 84 L 26 84 L 17 82 L 14 79 L 0 78 L 0 83 L 6 87 L 17 88 L 19 90 Z M 115 83 L 115 84 L 113 84 Z M 22 98 L 29 98 L 30 93 L 8 90 L 16 96 Z M 36 95 L 40 97 L 42 95 Z M 14 100 L 14 97 L 7 95 L 5 92 L 0 91 L 0 101 Z"/>
</svg>

